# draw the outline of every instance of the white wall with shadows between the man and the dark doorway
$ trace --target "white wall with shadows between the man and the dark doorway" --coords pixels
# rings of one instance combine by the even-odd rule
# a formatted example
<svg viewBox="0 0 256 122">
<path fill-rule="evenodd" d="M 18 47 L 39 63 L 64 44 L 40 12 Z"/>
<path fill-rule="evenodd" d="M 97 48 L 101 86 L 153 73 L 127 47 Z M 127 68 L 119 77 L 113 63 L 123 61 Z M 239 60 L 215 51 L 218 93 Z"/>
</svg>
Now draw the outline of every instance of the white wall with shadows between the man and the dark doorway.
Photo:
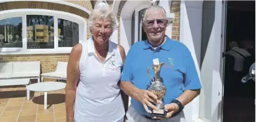
<svg viewBox="0 0 256 122">
<path fill-rule="evenodd" d="M 185 109 L 187 121 L 220 121 L 221 20 L 222 1 L 181 1 L 180 41 L 191 51 L 202 84 L 201 95 Z"/>
</svg>

